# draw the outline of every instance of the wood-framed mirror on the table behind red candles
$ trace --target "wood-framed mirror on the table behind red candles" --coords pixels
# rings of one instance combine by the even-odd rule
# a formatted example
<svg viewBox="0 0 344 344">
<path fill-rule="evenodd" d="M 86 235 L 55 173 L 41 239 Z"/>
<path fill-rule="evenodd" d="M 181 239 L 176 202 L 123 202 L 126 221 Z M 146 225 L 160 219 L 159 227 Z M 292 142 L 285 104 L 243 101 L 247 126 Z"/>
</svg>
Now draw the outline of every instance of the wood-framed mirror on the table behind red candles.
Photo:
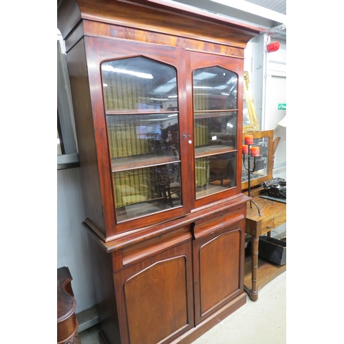
<svg viewBox="0 0 344 344">
<path fill-rule="evenodd" d="M 252 146 L 259 146 L 259 157 L 256 158 L 255 171 L 250 175 L 250 186 L 257 186 L 266 182 L 266 180 L 272 179 L 272 169 L 274 166 L 275 158 L 275 142 L 274 131 L 248 131 L 246 135 L 253 136 Z M 243 135 L 243 144 L 245 143 Z M 278 144 L 278 142 L 277 142 Z M 244 160 L 244 155 L 243 155 Z M 250 158 L 250 168 L 253 168 L 254 158 Z M 245 164 L 248 166 L 247 155 L 245 157 Z M 241 190 L 246 191 L 248 189 L 248 171 L 244 167 L 244 161 L 241 166 Z"/>
</svg>

